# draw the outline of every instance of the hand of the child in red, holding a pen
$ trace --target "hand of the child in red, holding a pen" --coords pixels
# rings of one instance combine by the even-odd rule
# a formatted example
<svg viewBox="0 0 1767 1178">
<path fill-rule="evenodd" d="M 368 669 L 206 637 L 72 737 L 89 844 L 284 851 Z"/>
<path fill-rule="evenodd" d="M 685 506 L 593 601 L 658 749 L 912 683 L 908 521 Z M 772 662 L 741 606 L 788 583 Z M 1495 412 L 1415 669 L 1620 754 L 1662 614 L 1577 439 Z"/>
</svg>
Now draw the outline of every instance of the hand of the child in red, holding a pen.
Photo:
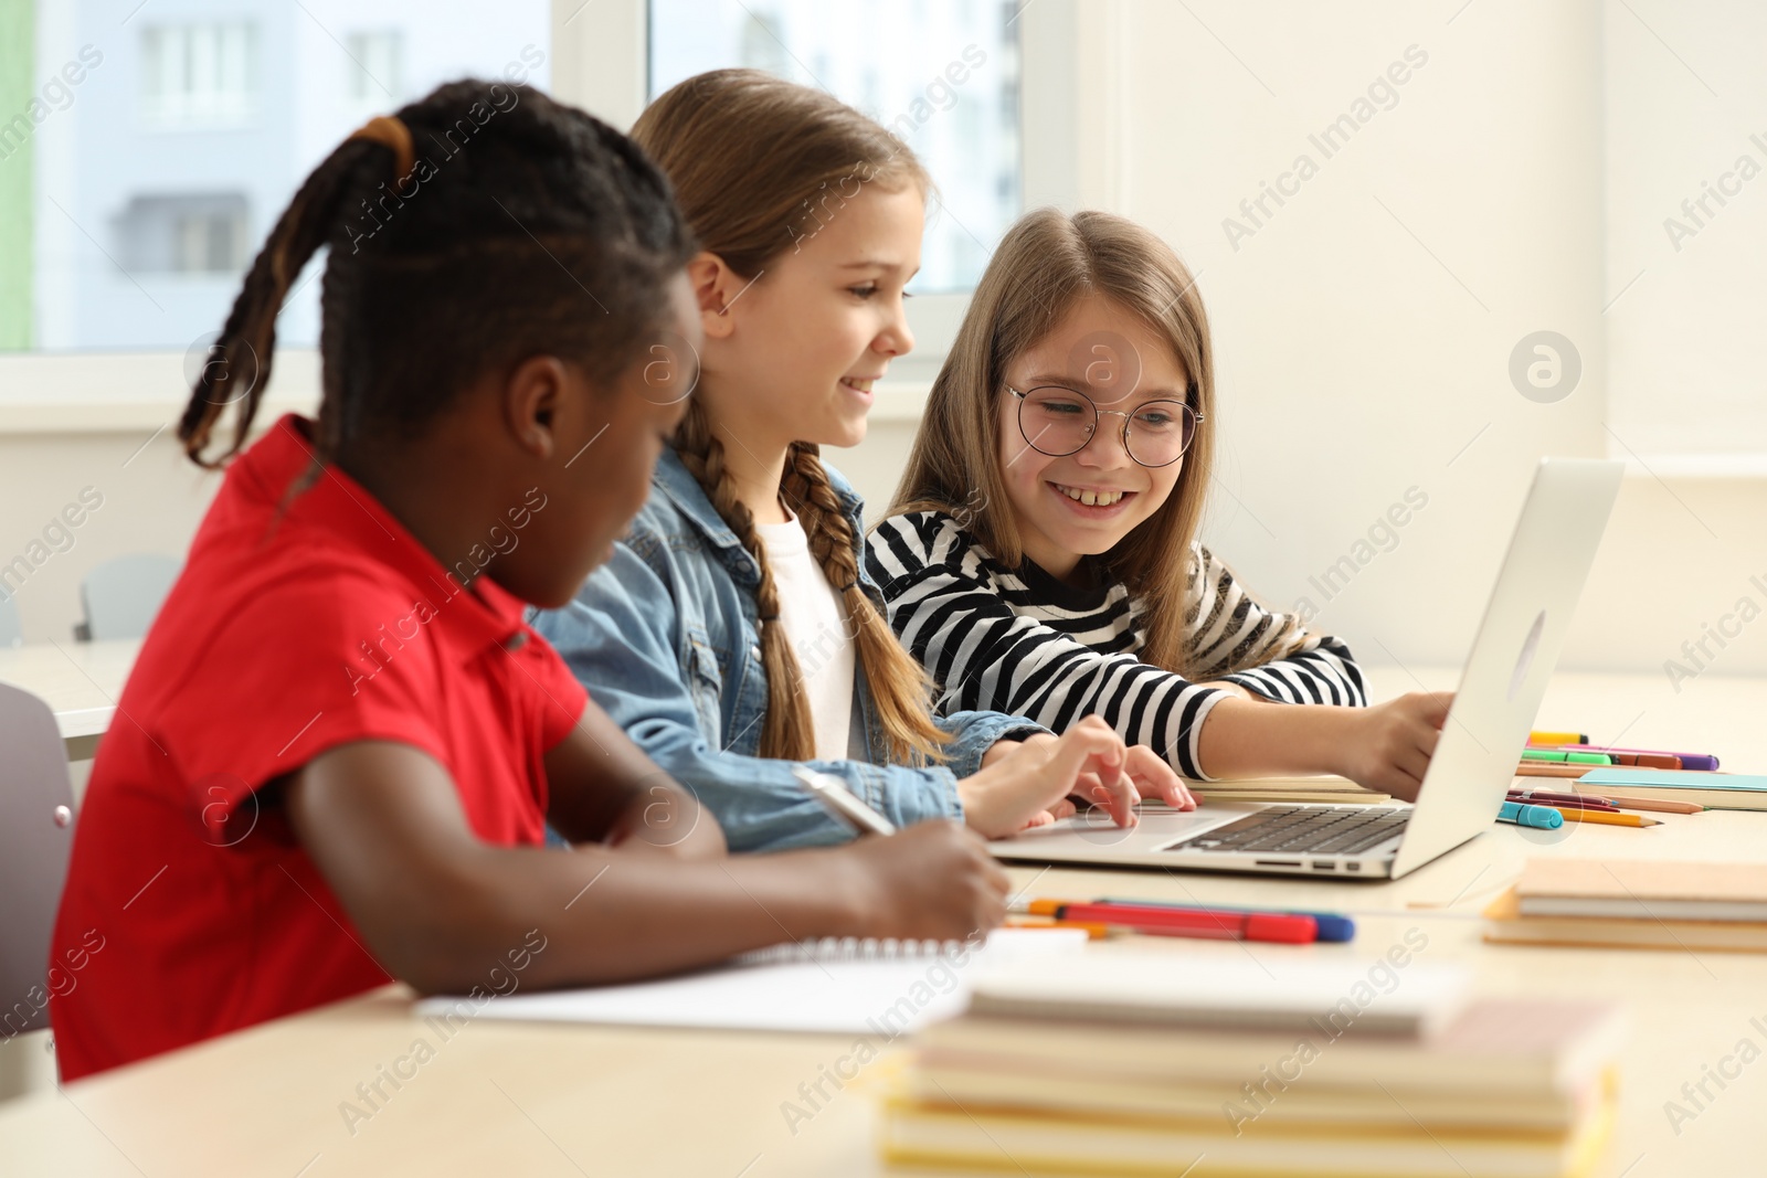
<svg viewBox="0 0 1767 1178">
<path fill-rule="evenodd" d="M 1005 920 L 1007 874 L 963 823 L 933 819 L 832 851 L 855 871 L 866 936 L 961 941 Z"/>
</svg>

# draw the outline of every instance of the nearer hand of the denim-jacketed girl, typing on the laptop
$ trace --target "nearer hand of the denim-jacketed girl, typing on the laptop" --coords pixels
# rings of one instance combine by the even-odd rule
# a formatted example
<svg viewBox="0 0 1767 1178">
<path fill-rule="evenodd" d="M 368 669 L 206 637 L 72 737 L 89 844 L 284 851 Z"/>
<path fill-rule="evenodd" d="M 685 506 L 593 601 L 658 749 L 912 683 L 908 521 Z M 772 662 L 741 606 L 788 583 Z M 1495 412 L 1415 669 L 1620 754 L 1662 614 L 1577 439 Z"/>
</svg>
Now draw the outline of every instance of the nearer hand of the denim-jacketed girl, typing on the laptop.
<svg viewBox="0 0 1767 1178">
<path fill-rule="evenodd" d="M 1141 800 L 1136 774 L 1168 788 L 1152 772 L 1149 758 L 1136 756 L 1131 765 L 1122 738 L 1103 719 L 1088 715 L 1062 736 L 1035 736 L 1000 756 L 990 749 L 982 770 L 958 782 L 958 798 L 965 821 L 986 839 L 1004 839 L 1067 818 L 1074 812 L 1074 804 L 1067 800 L 1071 793 L 1104 805 L 1119 827 L 1133 827 L 1134 804 Z M 1172 775 L 1175 781 L 1177 775 Z"/>
</svg>

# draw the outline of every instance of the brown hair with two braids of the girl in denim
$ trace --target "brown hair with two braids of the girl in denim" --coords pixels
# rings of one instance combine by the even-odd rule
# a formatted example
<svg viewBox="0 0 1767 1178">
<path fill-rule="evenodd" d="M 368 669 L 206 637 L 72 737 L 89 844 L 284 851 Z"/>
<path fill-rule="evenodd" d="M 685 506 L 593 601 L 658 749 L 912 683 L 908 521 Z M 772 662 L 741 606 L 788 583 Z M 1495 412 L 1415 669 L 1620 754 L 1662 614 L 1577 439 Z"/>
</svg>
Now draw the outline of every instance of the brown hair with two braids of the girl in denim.
<svg viewBox="0 0 1767 1178">
<path fill-rule="evenodd" d="M 823 214 L 832 215 L 866 184 L 891 193 L 906 185 L 922 193 L 931 187 L 908 147 L 873 120 L 820 90 L 753 69 L 719 69 L 670 88 L 640 115 L 633 140 L 675 185 L 675 198 L 701 245 L 751 279 L 813 235 Z M 767 675 L 760 754 L 809 759 L 815 756 L 809 703 L 799 689 L 797 657 L 779 620 L 779 588 L 755 532 L 755 516 L 737 498 L 724 468 L 724 447 L 700 401 L 689 403 L 675 450 L 760 569 L 755 604 Z M 859 537 L 829 484 L 816 445 L 792 443 L 779 491 L 846 608 L 857 662 L 891 759 L 942 759 L 947 736 L 931 717 L 931 683 L 859 588 Z"/>
</svg>

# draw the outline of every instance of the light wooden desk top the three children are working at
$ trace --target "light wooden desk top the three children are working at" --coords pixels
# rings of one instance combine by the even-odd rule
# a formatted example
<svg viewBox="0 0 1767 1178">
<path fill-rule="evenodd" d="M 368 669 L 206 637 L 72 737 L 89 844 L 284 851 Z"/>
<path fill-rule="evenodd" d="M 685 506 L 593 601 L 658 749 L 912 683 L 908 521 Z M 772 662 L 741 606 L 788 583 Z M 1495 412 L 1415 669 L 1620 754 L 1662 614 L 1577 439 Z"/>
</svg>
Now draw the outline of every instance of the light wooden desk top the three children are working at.
<svg viewBox="0 0 1767 1178">
<path fill-rule="evenodd" d="M 1424 676 L 1430 682 L 1430 676 Z M 1376 676 L 1384 692 L 1391 676 Z M 1408 680 L 1407 680 L 1408 682 Z M 1440 680 L 1437 680 L 1440 682 Z M 1566 676 L 1543 722 L 1585 724 L 1612 740 L 1714 749 L 1728 768 L 1767 768 L 1758 717 L 1767 682 L 1702 678 L 1682 696 L 1659 680 Z M 1689 696 L 1703 698 L 1696 714 Z M 1643 719 L 1633 717 L 1645 710 Z M 1612 728 L 1606 728 L 1612 726 Z M 1684 1083 L 1735 1051 L 1767 1049 L 1767 955 L 1657 954 L 1484 945 L 1477 910 L 1528 855 L 1767 858 L 1767 814 L 1663 816 L 1650 830 L 1576 827 L 1558 842 L 1493 827 L 1398 883 L 1239 880 L 1164 872 L 1014 869 L 1032 894 L 1119 894 L 1281 902 L 1357 911 L 1348 945 L 1242 945 L 1149 938 L 1175 955 L 1253 954 L 1368 961 L 1421 929 L 1424 961 L 1465 961 L 1486 994 L 1550 994 L 1624 1003 L 1620 1129 L 1603 1178 L 1755 1174 L 1767 1063 L 1756 1061 L 1680 1132 L 1665 1114 Z M 1458 897 L 1458 899 L 1456 899 Z M 1430 908 L 1410 908 L 1414 902 Z M 1103 947 L 1120 952 L 1129 941 Z M 435 1049 L 368 1121 L 341 1104 L 412 1051 Z M 7 1051 L 12 1047 L 0 1047 Z M 440 1040 L 408 1016 L 408 993 L 373 994 L 269 1023 L 0 1106 L 0 1171 L 19 1174 L 774 1174 L 864 1176 L 875 1157 L 871 1063 L 793 1134 L 781 1113 L 799 1084 L 852 1049 L 850 1037 L 661 1031 L 474 1023 Z M 391 1090 L 389 1090 L 391 1091 Z M 922 1173 L 922 1171 L 917 1171 Z"/>
</svg>

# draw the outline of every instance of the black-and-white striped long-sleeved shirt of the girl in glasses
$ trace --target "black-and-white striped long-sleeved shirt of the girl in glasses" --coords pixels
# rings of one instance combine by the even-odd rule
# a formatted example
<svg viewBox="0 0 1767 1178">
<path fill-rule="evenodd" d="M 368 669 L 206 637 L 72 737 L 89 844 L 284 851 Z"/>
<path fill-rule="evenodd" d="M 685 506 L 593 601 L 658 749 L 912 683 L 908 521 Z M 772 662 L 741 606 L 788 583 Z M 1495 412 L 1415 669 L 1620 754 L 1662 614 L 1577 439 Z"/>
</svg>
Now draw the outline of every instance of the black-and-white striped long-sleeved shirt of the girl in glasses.
<svg viewBox="0 0 1767 1178">
<path fill-rule="evenodd" d="M 1097 714 L 1186 777 L 1209 781 L 1198 738 L 1226 698 L 1205 682 L 1279 703 L 1368 703 L 1348 646 L 1265 609 L 1202 544 L 1191 549 L 1186 613 L 1198 682 L 1136 657 L 1147 608 L 1124 585 L 1074 588 L 1030 560 L 1007 569 L 942 512 L 880 523 L 866 569 L 891 627 L 938 685 L 942 712 L 1007 712 L 1055 731 Z"/>
</svg>

